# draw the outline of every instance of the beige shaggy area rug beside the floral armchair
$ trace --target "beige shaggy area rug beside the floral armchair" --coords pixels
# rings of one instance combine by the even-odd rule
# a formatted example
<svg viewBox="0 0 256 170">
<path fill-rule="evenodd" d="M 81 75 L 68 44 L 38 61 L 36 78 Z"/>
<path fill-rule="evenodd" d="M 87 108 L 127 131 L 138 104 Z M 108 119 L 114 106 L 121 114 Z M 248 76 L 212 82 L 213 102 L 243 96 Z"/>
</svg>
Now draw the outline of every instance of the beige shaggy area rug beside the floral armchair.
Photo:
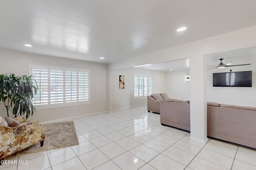
<svg viewBox="0 0 256 170">
<path fill-rule="evenodd" d="M 35 145 L 16 152 L 16 155 L 78 145 L 76 129 L 73 121 L 44 124 L 42 127 L 44 128 L 45 133 L 44 146 L 40 147 L 40 142 L 38 142 Z"/>
</svg>

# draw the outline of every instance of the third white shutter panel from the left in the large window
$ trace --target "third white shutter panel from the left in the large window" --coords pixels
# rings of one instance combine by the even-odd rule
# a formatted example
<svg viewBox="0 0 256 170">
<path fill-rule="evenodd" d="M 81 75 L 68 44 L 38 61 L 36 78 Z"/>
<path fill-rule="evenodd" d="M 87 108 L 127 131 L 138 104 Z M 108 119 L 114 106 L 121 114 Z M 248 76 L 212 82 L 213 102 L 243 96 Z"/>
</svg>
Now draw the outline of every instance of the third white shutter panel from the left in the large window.
<svg viewBox="0 0 256 170">
<path fill-rule="evenodd" d="M 77 72 L 66 71 L 66 102 L 77 101 Z"/>
</svg>

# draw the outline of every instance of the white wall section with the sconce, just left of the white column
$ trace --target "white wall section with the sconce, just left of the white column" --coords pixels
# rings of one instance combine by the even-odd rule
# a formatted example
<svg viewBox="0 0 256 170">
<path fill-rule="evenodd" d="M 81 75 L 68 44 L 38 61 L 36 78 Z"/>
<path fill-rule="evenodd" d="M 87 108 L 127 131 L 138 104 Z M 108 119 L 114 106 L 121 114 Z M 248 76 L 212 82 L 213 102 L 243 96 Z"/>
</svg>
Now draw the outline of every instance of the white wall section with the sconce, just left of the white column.
<svg viewBox="0 0 256 170">
<path fill-rule="evenodd" d="M 165 92 L 170 98 L 190 100 L 190 83 L 186 82 L 189 70 L 165 72 Z"/>
</svg>

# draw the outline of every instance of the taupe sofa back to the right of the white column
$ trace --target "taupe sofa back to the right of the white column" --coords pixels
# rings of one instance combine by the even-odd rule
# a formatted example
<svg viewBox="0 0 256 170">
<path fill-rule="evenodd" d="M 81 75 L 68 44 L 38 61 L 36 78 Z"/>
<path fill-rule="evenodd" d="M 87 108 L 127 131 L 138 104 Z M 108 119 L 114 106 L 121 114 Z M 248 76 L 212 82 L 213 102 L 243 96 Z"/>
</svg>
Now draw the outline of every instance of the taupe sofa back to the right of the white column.
<svg viewBox="0 0 256 170">
<path fill-rule="evenodd" d="M 207 106 L 207 136 L 256 148 L 256 107 Z"/>
</svg>

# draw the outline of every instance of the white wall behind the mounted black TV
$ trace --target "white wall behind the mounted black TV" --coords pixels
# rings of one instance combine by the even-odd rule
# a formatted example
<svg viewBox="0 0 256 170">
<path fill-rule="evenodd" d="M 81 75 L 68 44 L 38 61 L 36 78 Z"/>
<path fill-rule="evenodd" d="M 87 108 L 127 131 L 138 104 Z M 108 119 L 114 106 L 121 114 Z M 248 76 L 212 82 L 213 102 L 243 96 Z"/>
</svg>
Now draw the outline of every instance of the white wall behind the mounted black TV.
<svg viewBox="0 0 256 170">
<path fill-rule="evenodd" d="M 248 66 L 236 66 L 223 69 L 207 70 L 207 101 L 217 102 L 220 104 L 232 104 L 239 106 L 256 107 L 256 63 Z M 250 71 L 252 70 L 252 87 L 213 87 L 212 73 L 214 72 L 232 72 L 235 71 Z"/>
</svg>

